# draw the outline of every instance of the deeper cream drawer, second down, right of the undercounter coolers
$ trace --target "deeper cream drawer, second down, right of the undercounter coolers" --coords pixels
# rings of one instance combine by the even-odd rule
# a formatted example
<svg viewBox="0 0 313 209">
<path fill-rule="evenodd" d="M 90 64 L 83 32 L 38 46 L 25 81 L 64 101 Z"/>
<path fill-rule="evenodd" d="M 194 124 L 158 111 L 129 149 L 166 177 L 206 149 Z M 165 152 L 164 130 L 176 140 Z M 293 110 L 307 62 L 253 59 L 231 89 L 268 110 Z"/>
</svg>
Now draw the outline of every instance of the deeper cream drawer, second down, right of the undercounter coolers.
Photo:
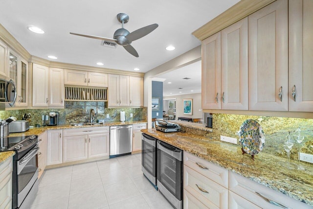
<svg viewBox="0 0 313 209">
<path fill-rule="evenodd" d="M 183 188 L 210 209 L 227 209 L 228 190 L 197 171 L 183 166 Z"/>
</svg>

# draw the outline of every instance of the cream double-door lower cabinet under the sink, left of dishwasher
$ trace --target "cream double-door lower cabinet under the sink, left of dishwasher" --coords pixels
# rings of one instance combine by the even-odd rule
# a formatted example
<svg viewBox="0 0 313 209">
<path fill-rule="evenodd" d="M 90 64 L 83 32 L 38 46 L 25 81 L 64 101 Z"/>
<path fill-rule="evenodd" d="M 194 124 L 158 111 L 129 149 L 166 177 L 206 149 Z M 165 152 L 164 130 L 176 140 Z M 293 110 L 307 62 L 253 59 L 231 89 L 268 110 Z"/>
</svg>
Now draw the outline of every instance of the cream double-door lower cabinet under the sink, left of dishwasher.
<svg viewBox="0 0 313 209">
<path fill-rule="evenodd" d="M 110 155 L 110 128 L 63 130 L 63 163 Z"/>
</svg>

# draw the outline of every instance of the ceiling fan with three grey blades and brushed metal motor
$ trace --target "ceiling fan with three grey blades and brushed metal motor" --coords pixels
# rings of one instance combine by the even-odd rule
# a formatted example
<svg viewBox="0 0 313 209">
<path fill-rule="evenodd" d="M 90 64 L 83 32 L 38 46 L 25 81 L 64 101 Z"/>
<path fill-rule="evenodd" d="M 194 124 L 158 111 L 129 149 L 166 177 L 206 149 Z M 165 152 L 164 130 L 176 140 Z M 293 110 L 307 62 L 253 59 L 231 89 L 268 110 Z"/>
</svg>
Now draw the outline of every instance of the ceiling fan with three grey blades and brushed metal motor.
<svg viewBox="0 0 313 209">
<path fill-rule="evenodd" d="M 122 28 L 119 28 L 114 32 L 113 39 L 101 36 L 83 35 L 72 32 L 70 32 L 70 34 L 84 36 L 93 39 L 100 39 L 108 42 L 115 42 L 116 44 L 123 46 L 130 54 L 134 55 L 135 57 L 139 57 L 137 51 L 134 49 L 133 46 L 131 46 L 132 42 L 154 31 L 158 27 L 158 24 L 155 23 L 147 25 L 130 33 L 128 30 L 124 28 L 124 23 L 127 23 L 129 21 L 129 16 L 124 13 L 119 13 L 117 14 L 117 20 L 120 23 L 122 23 Z"/>
</svg>

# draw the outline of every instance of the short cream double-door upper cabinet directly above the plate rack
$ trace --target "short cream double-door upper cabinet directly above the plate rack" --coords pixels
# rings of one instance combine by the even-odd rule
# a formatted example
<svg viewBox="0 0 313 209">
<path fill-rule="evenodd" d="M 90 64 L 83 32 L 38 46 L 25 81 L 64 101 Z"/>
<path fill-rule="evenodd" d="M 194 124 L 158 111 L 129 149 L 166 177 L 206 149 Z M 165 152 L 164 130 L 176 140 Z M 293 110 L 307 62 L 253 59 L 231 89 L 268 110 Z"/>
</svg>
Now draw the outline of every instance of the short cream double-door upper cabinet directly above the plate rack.
<svg viewBox="0 0 313 209">
<path fill-rule="evenodd" d="M 76 86 L 108 87 L 108 74 L 65 69 L 64 83 Z"/>
</svg>

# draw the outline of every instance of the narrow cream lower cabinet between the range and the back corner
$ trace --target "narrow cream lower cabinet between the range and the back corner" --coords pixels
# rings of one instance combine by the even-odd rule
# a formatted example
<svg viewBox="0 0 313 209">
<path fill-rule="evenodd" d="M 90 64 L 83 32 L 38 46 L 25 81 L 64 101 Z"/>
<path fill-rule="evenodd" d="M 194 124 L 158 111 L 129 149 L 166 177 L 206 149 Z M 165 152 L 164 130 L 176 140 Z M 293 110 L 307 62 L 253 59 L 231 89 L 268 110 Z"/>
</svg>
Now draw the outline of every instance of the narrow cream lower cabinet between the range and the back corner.
<svg viewBox="0 0 313 209">
<path fill-rule="evenodd" d="M 38 136 L 38 179 L 40 179 L 41 175 L 44 173 L 46 162 L 47 162 L 47 132 L 45 131 L 41 135 Z"/>
</svg>

